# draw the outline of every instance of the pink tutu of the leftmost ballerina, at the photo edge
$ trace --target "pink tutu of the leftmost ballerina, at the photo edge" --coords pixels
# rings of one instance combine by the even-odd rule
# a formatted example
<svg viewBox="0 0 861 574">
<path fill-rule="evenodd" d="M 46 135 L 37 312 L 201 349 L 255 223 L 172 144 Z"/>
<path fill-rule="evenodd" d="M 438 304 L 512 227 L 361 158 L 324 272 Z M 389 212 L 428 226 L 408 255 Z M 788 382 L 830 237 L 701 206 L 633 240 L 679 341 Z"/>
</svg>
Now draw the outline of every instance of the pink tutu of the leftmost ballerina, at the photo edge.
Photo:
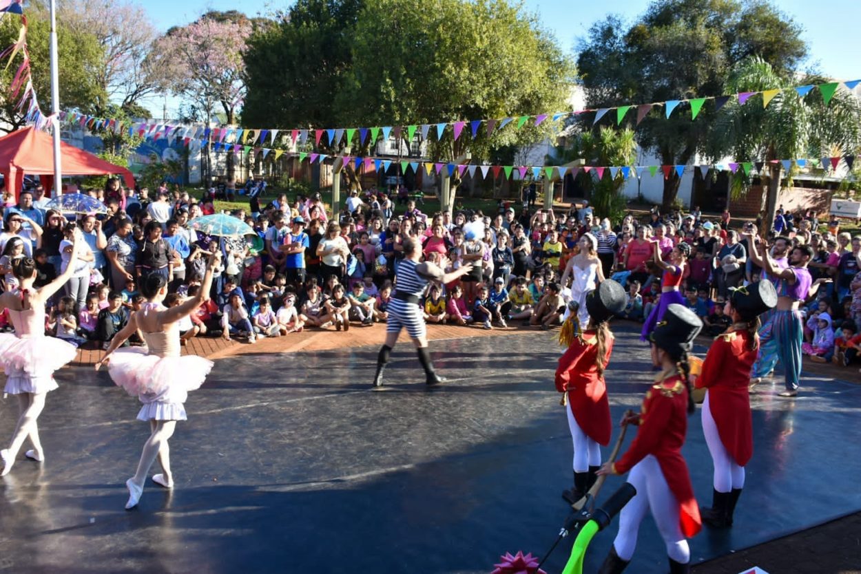
<svg viewBox="0 0 861 574">
<path fill-rule="evenodd" d="M 6 373 L 4 391 L 48 392 L 57 388 L 53 373 L 77 356 L 74 345 L 53 336 L 19 338 L 0 333 L 0 365 Z"/>
</svg>

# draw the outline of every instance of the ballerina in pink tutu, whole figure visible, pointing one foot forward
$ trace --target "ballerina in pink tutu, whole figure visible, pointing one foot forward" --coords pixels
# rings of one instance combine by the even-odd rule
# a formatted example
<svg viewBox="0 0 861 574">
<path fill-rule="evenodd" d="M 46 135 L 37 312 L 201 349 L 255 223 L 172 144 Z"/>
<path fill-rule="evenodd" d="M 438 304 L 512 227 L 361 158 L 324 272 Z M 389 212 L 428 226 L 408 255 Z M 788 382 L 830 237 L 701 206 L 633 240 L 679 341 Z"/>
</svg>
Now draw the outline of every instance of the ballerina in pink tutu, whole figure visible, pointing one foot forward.
<svg viewBox="0 0 861 574">
<path fill-rule="evenodd" d="M 162 275 L 149 275 L 140 286 L 147 302 L 129 318 L 126 327 L 114 336 L 102 361 L 96 363 L 96 370 L 107 364 L 108 373 L 116 385 L 140 399 L 144 406 L 138 413 L 138 420 L 148 421 L 152 430 L 140 454 L 138 471 L 126 481 L 127 510 L 138 505 L 146 475 L 157 456 L 162 472 L 153 475 L 152 482 L 173 488 L 167 441 L 173 435 L 177 421 L 186 420 L 183 403 L 189 391 L 200 388 L 213 367 L 213 362 L 203 357 L 180 356 L 178 321 L 188 317 L 206 300 L 220 257 L 219 251 L 209 257 L 201 288 L 195 297 L 179 306 L 167 308 L 162 305 L 167 295 L 167 280 Z M 146 349 L 116 350 L 137 330 L 144 334 Z"/>
</svg>

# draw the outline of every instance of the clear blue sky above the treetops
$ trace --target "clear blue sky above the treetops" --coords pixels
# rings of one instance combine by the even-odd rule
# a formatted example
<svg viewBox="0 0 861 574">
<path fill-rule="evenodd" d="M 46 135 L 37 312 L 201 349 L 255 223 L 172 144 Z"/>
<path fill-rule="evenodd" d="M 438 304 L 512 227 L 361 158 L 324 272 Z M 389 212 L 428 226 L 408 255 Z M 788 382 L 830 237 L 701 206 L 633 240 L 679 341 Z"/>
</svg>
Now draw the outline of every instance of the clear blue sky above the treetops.
<svg viewBox="0 0 861 574">
<path fill-rule="evenodd" d="M 421 0 L 416 0 L 420 2 Z M 777 0 L 774 3 L 804 28 L 808 42 L 808 64 L 838 80 L 861 78 L 861 41 L 857 22 L 861 16 L 858 0 L 826 0 L 827 9 L 817 9 L 809 0 Z M 140 1 L 158 28 L 182 26 L 209 9 L 241 9 L 248 15 L 267 15 L 274 9 L 287 9 L 293 2 L 286 0 L 146 0 Z M 608 13 L 634 20 L 647 8 L 649 0 L 613 0 L 604 2 L 575 2 L 574 0 L 523 0 L 527 10 L 535 12 L 544 28 L 554 33 L 560 46 L 573 51 L 579 37 L 586 34 L 594 22 Z M 160 114 L 162 100 L 146 102 L 152 112 Z M 175 101 L 168 101 L 169 114 L 175 111 Z"/>
</svg>

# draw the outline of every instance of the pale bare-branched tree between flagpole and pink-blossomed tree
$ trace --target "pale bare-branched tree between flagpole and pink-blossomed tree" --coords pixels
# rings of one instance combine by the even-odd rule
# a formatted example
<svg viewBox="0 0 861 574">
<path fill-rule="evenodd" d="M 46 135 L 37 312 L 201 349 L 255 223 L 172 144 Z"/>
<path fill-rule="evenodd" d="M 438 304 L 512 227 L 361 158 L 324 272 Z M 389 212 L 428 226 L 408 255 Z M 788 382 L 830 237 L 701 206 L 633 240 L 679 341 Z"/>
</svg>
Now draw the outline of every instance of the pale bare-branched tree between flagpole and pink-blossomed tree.
<svg viewBox="0 0 861 574">
<path fill-rule="evenodd" d="M 59 3 L 58 21 L 75 34 L 95 35 L 102 46 L 104 58 L 94 70 L 103 91 L 96 114 L 106 114 L 108 102 L 125 107 L 164 85 L 164 68 L 152 56 L 158 31 L 145 9 L 127 0 L 71 0 Z"/>
</svg>

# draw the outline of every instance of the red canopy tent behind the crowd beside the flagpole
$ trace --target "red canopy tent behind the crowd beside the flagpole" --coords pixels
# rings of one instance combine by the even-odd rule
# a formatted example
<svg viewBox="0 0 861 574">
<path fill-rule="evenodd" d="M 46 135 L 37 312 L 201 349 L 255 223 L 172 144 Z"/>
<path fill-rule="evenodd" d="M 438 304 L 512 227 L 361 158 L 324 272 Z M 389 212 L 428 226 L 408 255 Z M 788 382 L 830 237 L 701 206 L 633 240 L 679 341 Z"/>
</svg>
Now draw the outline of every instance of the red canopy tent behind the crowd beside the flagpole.
<svg viewBox="0 0 861 574">
<path fill-rule="evenodd" d="M 60 168 L 64 176 L 119 175 L 127 188 L 134 187 L 132 172 L 74 145 L 60 142 Z M 0 138 L 0 173 L 6 178 L 6 189 L 21 194 L 24 174 L 40 176 L 47 195 L 53 190 L 53 141 L 50 135 L 34 127 L 24 127 Z"/>
</svg>

